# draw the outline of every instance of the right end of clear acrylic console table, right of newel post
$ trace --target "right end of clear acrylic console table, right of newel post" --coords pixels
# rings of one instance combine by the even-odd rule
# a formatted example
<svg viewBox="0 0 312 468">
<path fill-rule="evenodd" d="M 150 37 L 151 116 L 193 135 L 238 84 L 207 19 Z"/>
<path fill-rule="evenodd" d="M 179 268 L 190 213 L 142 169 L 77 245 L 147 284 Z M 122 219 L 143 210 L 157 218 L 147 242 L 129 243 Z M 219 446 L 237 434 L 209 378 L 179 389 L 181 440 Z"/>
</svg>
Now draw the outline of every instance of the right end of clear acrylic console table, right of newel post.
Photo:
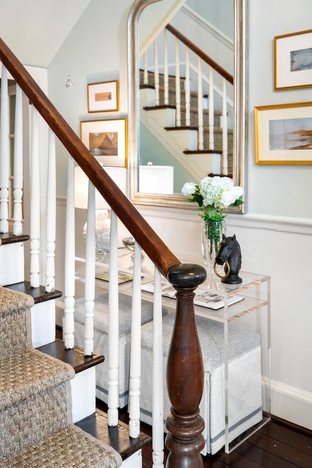
<svg viewBox="0 0 312 468">
<path fill-rule="evenodd" d="M 270 420 L 270 377 L 271 377 L 271 342 L 270 342 L 270 276 L 255 273 L 240 272 L 242 283 L 227 285 L 221 282 L 215 274 L 210 274 L 205 282 L 209 292 L 220 294 L 224 297 L 224 307 L 215 311 L 205 307 L 195 306 L 196 315 L 207 317 L 221 322 L 224 327 L 224 420 L 225 420 L 225 452 L 230 453 L 237 445 L 246 440 L 252 433 Z M 243 300 L 228 305 L 230 296 L 240 296 Z M 232 325 L 233 324 L 233 325 Z M 231 362 L 231 327 L 239 324 L 259 337 L 260 345 L 260 380 L 261 380 L 261 419 L 245 434 L 239 436 L 239 441 L 232 441 L 231 431 L 237 422 L 234 420 L 235 411 L 231 408 L 233 402 L 239 407 L 244 399 L 248 398 L 248 389 L 244 388 L 244 377 L 237 382 L 237 367 Z M 232 337 L 232 342 L 234 337 Z M 236 343 L 237 345 L 237 343 Z M 248 357 L 245 353 L 246 363 L 251 363 L 252 352 Z M 248 358 L 247 358 L 248 357 Z M 243 362 L 243 357 L 241 358 Z M 234 363 L 234 360 L 232 361 Z M 238 361 L 237 361 L 238 362 Z M 242 364 L 241 362 L 241 364 Z M 248 372 L 253 373 L 258 379 L 257 364 L 251 366 Z M 246 379 L 246 382 L 248 379 Z M 249 382 L 252 380 L 249 379 Z"/>
</svg>

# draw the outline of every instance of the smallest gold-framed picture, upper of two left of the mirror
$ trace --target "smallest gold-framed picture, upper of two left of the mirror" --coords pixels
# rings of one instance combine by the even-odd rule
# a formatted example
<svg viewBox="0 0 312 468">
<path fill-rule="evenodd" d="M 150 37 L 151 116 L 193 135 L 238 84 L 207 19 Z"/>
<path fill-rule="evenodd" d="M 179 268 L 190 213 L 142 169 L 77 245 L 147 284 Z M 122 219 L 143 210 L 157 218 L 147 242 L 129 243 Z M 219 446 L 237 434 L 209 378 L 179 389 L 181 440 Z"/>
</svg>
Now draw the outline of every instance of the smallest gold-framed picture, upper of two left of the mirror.
<svg viewBox="0 0 312 468">
<path fill-rule="evenodd" d="M 118 80 L 88 84 L 88 112 L 119 110 Z"/>
</svg>

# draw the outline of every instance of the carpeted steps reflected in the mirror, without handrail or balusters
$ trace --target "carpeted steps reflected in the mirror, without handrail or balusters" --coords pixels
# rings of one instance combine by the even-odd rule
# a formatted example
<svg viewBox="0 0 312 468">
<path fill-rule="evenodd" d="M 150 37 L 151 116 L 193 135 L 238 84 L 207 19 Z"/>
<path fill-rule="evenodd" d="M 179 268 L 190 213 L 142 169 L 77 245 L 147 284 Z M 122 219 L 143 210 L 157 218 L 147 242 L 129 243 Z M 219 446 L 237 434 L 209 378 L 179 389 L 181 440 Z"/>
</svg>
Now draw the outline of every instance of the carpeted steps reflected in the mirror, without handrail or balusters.
<svg viewBox="0 0 312 468">
<path fill-rule="evenodd" d="M 159 74 L 159 105 L 155 106 L 155 75 L 148 72 L 144 84 L 140 70 L 140 123 L 193 177 L 200 180 L 208 174 L 220 174 L 222 157 L 222 111 L 214 111 L 214 149 L 209 149 L 208 97 L 203 102 L 203 149 L 198 149 L 197 92 L 191 91 L 190 125 L 186 125 L 185 79 L 180 78 L 180 126 L 176 126 L 176 77 L 168 78 L 169 103 L 164 103 L 164 76 Z M 233 167 L 233 129 L 228 129 L 228 175 Z"/>
</svg>

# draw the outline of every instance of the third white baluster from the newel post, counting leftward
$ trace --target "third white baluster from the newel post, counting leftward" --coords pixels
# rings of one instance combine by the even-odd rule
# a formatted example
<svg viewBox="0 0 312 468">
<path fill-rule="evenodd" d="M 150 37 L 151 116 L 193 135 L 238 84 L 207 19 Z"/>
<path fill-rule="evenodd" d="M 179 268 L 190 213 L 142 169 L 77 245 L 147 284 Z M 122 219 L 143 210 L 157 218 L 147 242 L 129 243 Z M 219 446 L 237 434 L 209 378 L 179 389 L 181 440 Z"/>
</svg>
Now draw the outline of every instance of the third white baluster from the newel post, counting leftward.
<svg viewBox="0 0 312 468">
<path fill-rule="evenodd" d="M 118 243 L 117 215 L 111 210 L 108 296 L 108 411 L 109 426 L 118 424 Z"/>
</svg>

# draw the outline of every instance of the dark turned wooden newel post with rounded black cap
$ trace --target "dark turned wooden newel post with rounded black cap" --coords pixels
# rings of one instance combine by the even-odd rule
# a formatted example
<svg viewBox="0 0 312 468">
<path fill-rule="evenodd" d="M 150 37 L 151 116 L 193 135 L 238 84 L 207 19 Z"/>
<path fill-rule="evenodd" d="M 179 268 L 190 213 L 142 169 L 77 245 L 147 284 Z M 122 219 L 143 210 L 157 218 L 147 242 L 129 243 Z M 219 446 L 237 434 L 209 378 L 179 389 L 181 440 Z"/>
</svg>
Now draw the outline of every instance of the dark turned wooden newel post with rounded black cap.
<svg viewBox="0 0 312 468">
<path fill-rule="evenodd" d="M 166 421 L 170 451 L 166 468 L 200 468 L 200 451 L 205 442 L 205 423 L 199 415 L 204 387 L 204 367 L 197 334 L 194 296 L 196 287 L 206 279 L 199 265 L 179 264 L 168 271 L 168 280 L 176 289 L 176 320 L 167 362 L 167 389 L 171 414 Z"/>
</svg>

